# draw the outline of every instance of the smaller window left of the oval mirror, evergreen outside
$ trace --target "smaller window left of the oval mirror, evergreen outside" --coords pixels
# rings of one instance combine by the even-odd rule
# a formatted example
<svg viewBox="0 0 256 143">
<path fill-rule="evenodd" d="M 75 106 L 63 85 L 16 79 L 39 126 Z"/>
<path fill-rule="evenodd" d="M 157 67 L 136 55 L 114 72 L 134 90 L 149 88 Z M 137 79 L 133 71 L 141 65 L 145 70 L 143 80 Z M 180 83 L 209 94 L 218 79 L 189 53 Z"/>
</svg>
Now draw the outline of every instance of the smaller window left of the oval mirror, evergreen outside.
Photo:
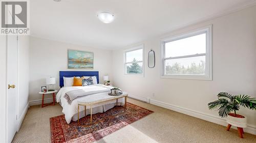
<svg viewBox="0 0 256 143">
<path fill-rule="evenodd" d="M 144 45 L 124 51 L 125 74 L 143 75 Z"/>
</svg>

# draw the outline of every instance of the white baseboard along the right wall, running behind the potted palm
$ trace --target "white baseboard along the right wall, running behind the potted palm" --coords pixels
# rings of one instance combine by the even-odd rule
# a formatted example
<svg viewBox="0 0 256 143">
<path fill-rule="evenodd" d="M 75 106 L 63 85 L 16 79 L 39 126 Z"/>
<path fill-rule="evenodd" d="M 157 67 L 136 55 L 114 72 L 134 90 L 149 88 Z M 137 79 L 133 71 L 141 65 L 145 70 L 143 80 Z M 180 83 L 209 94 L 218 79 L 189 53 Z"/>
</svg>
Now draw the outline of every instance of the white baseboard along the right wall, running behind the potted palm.
<svg viewBox="0 0 256 143">
<path fill-rule="evenodd" d="M 216 123 L 216 124 L 219 124 L 219 125 L 222 125 L 222 126 L 227 126 L 226 120 L 223 119 L 223 118 L 220 118 L 218 116 L 209 115 L 207 113 L 203 113 L 203 112 L 199 112 L 199 111 L 179 107 L 179 106 L 176 106 L 176 105 L 164 103 L 164 102 L 153 100 L 153 99 L 150 100 L 150 103 L 153 104 L 153 105 L 156 105 L 156 106 L 160 106 L 160 107 L 163 107 L 163 108 L 167 108 L 167 109 L 170 109 L 170 110 L 174 110 L 174 111 L 177 111 L 177 112 L 184 113 L 185 115 L 196 117 L 196 118 L 206 120 L 206 121 L 209 121 L 209 122 L 212 122 L 212 123 Z M 236 129 L 236 127 L 233 127 L 233 126 L 232 126 L 232 128 Z M 256 126 L 247 124 L 247 128 L 244 129 L 244 132 L 256 135 Z"/>
</svg>

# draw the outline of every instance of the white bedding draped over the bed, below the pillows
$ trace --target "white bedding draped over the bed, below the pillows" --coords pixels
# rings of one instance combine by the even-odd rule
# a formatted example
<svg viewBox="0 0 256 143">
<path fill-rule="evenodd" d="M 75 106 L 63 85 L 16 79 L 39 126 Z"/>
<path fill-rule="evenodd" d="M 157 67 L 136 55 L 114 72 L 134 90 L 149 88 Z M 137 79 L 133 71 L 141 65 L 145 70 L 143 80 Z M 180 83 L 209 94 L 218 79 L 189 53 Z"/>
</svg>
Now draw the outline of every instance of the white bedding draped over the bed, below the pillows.
<svg viewBox="0 0 256 143">
<path fill-rule="evenodd" d="M 97 93 L 97 94 L 91 94 L 91 95 L 87 95 L 87 96 L 83 96 L 83 97 L 78 97 L 76 99 L 74 99 L 71 104 L 68 104 L 67 99 L 64 98 L 64 95 L 72 90 L 78 90 L 78 89 L 83 89 L 83 90 L 87 90 L 90 91 L 92 89 L 95 88 L 99 88 L 99 87 L 105 87 L 105 85 L 103 84 L 93 84 L 93 85 L 88 85 L 88 86 L 84 86 L 84 87 L 63 87 L 59 90 L 58 94 L 56 95 L 56 101 L 60 102 L 60 105 L 62 106 L 62 112 L 65 114 L 65 119 L 67 121 L 67 123 L 69 124 L 72 121 L 76 121 L 77 120 L 77 101 L 86 101 L 86 100 L 90 100 L 92 98 L 95 98 L 95 96 L 99 96 L 102 94 L 108 94 L 108 92 L 103 92 L 103 93 Z M 108 88 L 113 88 L 113 87 L 108 87 Z M 97 113 L 97 112 L 104 112 L 110 108 L 113 108 L 115 106 L 116 100 L 112 100 L 112 101 L 108 101 L 108 102 L 104 102 L 101 104 L 97 104 L 93 106 L 93 113 Z M 120 98 L 118 99 L 118 105 L 124 105 L 124 99 Z M 90 107 L 87 106 L 87 115 L 90 114 Z M 79 118 L 84 117 L 84 106 L 79 106 Z"/>
</svg>

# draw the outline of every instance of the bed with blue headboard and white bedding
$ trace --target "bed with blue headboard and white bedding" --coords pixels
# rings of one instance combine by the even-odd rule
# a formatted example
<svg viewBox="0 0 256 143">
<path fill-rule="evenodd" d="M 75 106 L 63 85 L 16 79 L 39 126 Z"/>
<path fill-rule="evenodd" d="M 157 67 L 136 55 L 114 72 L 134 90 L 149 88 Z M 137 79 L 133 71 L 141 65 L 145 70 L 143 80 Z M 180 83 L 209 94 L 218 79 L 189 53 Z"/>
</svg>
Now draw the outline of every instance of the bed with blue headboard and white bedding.
<svg viewBox="0 0 256 143">
<path fill-rule="evenodd" d="M 83 86 L 83 87 L 82 86 L 64 87 L 63 77 L 74 77 L 74 76 L 76 76 L 76 77 L 77 76 L 79 76 L 79 77 L 96 76 L 97 84 Z M 69 104 L 67 99 L 64 98 L 65 94 L 69 91 L 78 90 L 78 89 L 82 89 L 84 91 L 90 91 L 92 89 L 95 90 L 95 89 L 101 89 L 101 88 L 105 88 L 105 89 L 113 88 L 113 87 L 106 86 L 103 84 L 98 84 L 98 83 L 99 83 L 99 72 L 98 71 L 59 71 L 60 90 L 59 90 L 58 94 L 56 95 L 56 101 L 62 106 L 62 108 L 63 108 L 62 112 L 65 114 L 65 119 L 68 124 L 71 121 L 77 121 L 77 110 L 78 110 L 77 102 L 78 101 L 87 101 L 87 100 L 90 100 L 91 98 L 97 98 L 97 96 L 100 96 L 102 94 L 108 94 L 108 92 L 104 91 L 104 92 L 100 92 L 100 93 L 95 93 L 95 94 L 90 94 L 87 96 L 78 97 L 78 98 L 74 99 L 71 102 L 71 104 Z M 117 104 L 123 106 L 124 99 L 123 98 L 118 99 Z M 98 112 L 105 112 L 106 110 L 113 108 L 115 105 L 116 105 L 116 100 L 100 103 L 100 104 L 93 106 L 92 112 L 93 112 L 93 114 L 98 113 Z M 90 113 L 90 111 L 89 111 L 90 107 L 87 107 L 86 110 L 87 110 L 87 115 L 88 115 Z M 79 118 L 83 118 L 83 117 L 84 117 L 84 107 L 80 106 Z"/>
</svg>

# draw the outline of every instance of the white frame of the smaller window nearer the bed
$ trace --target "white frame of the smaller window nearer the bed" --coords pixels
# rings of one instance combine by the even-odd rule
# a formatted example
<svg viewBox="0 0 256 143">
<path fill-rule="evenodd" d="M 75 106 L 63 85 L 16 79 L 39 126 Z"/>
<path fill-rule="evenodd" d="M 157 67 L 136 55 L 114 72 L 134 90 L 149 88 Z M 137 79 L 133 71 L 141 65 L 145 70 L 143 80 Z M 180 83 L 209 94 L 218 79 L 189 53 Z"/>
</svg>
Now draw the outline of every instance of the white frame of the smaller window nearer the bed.
<svg viewBox="0 0 256 143">
<path fill-rule="evenodd" d="M 142 61 L 139 61 L 137 63 L 142 63 L 142 73 L 127 73 L 126 64 L 132 64 L 133 62 L 126 62 L 126 53 L 142 49 Z M 144 44 L 140 44 L 137 46 L 134 46 L 133 48 L 125 49 L 123 51 L 123 68 L 124 68 L 124 75 L 136 75 L 136 76 L 142 76 L 144 77 Z"/>
</svg>

